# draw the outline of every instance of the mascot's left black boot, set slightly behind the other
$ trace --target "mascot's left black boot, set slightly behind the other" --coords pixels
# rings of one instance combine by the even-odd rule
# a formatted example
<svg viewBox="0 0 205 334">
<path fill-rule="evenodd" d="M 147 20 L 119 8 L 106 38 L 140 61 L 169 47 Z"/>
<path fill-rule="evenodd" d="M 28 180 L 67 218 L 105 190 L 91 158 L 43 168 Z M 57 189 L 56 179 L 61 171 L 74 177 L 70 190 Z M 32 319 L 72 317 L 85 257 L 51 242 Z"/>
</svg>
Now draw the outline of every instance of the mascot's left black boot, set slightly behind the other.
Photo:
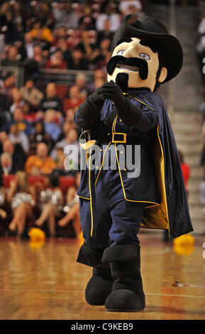
<svg viewBox="0 0 205 334">
<path fill-rule="evenodd" d="M 90 249 L 83 244 L 77 262 L 92 266 L 92 277 L 85 289 L 85 299 L 90 305 L 104 305 L 113 288 L 113 278 L 109 263 L 101 263 L 104 251 Z"/>
</svg>

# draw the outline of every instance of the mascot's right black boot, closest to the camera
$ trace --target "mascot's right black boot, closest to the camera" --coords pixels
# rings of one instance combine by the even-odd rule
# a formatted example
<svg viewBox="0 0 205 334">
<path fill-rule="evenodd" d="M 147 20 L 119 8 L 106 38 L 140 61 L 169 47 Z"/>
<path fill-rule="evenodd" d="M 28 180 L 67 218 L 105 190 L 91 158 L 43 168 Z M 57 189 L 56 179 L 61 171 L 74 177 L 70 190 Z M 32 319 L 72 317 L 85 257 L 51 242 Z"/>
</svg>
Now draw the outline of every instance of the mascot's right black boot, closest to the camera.
<svg viewBox="0 0 205 334">
<path fill-rule="evenodd" d="M 145 308 L 145 294 L 140 275 L 140 247 L 134 244 L 115 245 L 104 252 L 109 260 L 113 290 L 106 298 L 107 311 L 138 312 Z"/>
</svg>

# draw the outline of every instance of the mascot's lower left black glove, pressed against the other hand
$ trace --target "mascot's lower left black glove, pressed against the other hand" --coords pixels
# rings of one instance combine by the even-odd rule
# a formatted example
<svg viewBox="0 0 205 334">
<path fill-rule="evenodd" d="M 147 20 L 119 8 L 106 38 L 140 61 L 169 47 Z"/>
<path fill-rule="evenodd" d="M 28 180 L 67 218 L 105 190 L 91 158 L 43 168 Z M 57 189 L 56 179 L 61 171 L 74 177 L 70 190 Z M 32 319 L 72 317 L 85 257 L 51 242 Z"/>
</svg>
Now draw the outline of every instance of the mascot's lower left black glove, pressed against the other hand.
<svg viewBox="0 0 205 334">
<path fill-rule="evenodd" d="M 103 105 L 104 97 L 101 94 L 101 87 L 99 87 L 79 105 L 79 114 L 85 121 L 93 123 L 98 117 Z"/>
</svg>

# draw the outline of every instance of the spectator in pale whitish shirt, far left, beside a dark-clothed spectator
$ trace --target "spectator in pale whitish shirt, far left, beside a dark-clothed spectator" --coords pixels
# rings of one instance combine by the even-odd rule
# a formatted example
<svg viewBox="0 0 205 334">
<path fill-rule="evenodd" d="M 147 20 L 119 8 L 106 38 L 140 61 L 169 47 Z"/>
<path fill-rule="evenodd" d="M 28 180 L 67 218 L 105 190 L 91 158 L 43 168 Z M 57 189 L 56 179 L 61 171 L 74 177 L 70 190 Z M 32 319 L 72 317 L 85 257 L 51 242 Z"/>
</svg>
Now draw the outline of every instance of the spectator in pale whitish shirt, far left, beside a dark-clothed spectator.
<svg viewBox="0 0 205 334">
<path fill-rule="evenodd" d="M 26 155 L 29 153 L 29 141 L 28 136 L 23 131 L 19 131 L 16 123 L 11 124 L 9 131 L 9 140 L 13 144 L 21 144 L 23 151 Z"/>
</svg>

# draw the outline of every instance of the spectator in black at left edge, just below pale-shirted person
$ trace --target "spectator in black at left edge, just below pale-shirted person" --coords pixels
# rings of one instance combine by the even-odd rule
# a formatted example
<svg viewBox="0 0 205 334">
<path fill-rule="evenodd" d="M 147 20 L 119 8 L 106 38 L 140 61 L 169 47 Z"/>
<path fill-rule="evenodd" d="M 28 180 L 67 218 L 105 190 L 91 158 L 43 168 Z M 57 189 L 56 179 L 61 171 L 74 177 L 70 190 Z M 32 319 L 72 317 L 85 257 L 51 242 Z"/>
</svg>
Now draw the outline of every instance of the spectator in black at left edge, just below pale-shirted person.
<svg viewBox="0 0 205 334">
<path fill-rule="evenodd" d="M 23 171 L 24 163 L 26 161 L 26 154 L 24 153 L 21 144 L 13 144 L 9 139 L 4 141 L 2 145 L 2 153 L 10 153 L 12 156 L 12 170 Z"/>
</svg>

